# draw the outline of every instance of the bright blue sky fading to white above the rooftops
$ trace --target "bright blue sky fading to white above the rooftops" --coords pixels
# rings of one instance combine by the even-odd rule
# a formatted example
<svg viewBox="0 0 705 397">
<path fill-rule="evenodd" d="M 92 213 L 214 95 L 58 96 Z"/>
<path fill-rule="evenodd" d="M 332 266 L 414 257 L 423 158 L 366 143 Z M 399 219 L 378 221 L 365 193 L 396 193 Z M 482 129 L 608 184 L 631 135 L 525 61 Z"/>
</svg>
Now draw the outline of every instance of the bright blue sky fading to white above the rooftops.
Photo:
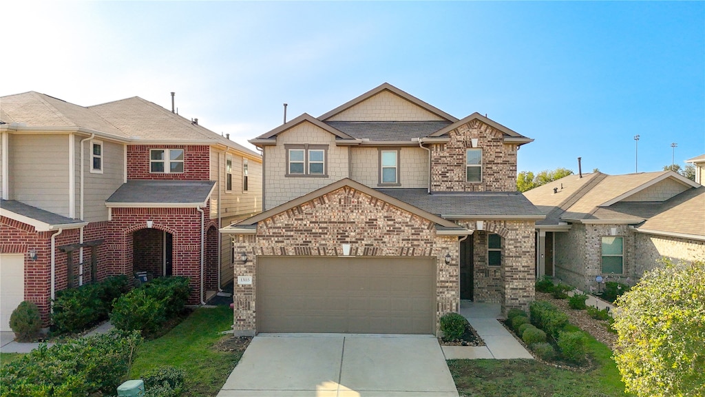
<svg viewBox="0 0 705 397">
<path fill-rule="evenodd" d="M 21 4 L 20 4 L 21 3 Z M 388 82 L 534 138 L 519 170 L 705 153 L 705 2 L 5 3 L 0 95 L 140 96 L 245 143 Z"/>
</svg>

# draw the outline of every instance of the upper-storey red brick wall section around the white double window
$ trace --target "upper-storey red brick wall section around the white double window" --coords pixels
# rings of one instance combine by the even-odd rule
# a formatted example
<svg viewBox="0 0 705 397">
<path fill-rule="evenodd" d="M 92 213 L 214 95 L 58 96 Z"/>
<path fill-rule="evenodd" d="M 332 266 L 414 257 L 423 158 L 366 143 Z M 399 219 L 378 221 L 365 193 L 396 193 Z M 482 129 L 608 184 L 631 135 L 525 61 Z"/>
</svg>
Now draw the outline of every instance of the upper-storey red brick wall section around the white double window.
<svg viewBox="0 0 705 397">
<path fill-rule="evenodd" d="M 183 173 L 149 172 L 149 149 L 183 149 Z M 128 179 L 210 179 L 209 146 L 128 145 Z"/>
</svg>

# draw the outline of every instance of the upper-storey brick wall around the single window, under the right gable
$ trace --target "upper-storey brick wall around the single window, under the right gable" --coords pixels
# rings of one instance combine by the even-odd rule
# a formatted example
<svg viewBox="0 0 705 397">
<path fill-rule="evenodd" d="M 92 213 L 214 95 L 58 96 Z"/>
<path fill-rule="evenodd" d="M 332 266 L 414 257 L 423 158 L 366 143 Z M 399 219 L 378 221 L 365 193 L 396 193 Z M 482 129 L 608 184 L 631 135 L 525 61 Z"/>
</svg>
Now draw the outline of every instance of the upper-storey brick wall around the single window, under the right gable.
<svg viewBox="0 0 705 397">
<path fill-rule="evenodd" d="M 448 133 L 450 141 L 431 146 L 432 191 L 516 191 L 517 150 L 503 133 L 475 119 Z M 482 148 L 482 182 L 465 182 L 466 150 L 477 138 Z"/>
</svg>

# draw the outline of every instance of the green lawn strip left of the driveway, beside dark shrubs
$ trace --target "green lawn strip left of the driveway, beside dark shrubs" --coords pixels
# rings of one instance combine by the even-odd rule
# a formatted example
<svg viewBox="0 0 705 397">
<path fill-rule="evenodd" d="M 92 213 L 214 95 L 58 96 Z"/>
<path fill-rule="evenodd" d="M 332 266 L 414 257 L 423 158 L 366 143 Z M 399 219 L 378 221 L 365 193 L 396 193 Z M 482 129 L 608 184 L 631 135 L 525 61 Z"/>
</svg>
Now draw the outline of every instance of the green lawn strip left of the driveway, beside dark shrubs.
<svg viewBox="0 0 705 397">
<path fill-rule="evenodd" d="M 215 396 L 240 360 L 241 352 L 213 348 L 233 324 L 233 309 L 199 308 L 166 335 L 142 344 L 130 372 L 138 379 L 149 369 L 173 365 L 186 372 L 182 397 Z"/>
</svg>

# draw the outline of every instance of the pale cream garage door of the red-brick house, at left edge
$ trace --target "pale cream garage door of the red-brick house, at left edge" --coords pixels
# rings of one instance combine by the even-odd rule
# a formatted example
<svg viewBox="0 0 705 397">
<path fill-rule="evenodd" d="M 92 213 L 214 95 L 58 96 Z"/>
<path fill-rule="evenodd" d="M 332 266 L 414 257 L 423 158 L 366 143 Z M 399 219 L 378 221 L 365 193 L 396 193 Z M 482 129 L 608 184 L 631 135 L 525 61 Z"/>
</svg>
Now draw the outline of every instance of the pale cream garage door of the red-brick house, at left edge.
<svg viewBox="0 0 705 397">
<path fill-rule="evenodd" d="M 10 315 L 25 300 L 25 256 L 0 254 L 0 330 L 12 331 Z"/>
</svg>

